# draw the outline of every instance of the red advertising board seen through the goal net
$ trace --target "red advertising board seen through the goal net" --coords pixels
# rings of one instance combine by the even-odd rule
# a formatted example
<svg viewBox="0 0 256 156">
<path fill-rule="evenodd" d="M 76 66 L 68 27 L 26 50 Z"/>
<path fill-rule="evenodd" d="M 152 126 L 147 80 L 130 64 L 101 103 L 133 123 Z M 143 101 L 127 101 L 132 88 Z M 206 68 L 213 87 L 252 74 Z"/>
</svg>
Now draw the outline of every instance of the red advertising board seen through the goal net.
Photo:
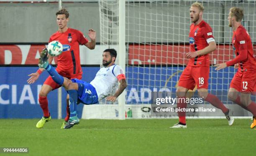
<svg viewBox="0 0 256 156">
<path fill-rule="evenodd" d="M 256 45 L 254 46 L 256 54 Z M 129 64 L 187 64 L 184 53 L 189 52 L 189 45 L 129 45 Z M 177 59 L 179 58 L 179 59 Z M 222 63 L 234 58 L 230 45 L 218 45 L 210 54 L 210 64 Z"/>
</svg>

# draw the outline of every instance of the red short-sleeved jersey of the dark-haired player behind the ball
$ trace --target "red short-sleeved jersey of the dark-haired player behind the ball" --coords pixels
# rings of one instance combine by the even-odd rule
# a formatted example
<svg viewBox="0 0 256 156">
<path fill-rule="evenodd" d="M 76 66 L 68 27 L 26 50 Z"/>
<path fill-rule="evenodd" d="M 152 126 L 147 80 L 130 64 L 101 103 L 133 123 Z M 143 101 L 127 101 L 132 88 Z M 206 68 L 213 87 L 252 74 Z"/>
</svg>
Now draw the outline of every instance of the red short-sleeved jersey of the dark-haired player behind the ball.
<svg viewBox="0 0 256 156">
<path fill-rule="evenodd" d="M 82 32 L 72 28 L 64 33 L 55 32 L 51 35 L 49 42 L 57 40 L 63 45 L 63 51 L 58 56 L 58 66 L 56 70 L 64 77 L 72 77 L 82 74 L 80 64 L 79 44 L 84 45 L 88 42 Z"/>
</svg>

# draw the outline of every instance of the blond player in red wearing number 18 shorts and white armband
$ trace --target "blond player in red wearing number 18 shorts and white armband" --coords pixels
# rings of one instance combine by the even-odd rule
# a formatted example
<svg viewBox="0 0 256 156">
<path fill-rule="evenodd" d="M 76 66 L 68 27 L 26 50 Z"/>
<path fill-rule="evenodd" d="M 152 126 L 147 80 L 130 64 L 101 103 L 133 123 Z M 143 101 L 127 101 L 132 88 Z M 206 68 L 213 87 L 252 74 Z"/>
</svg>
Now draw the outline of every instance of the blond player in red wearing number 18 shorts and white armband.
<svg viewBox="0 0 256 156">
<path fill-rule="evenodd" d="M 228 124 L 232 125 L 234 117 L 232 112 L 227 109 L 215 95 L 208 94 L 208 78 L 210 72 L 209 53 L 216 49 L 216 43 L 212 35 L 212 29 L 204 20 L 202 14 L 204 7 L 201 3 L 195 2 L 190 7 L 190 25 L 189 43 L 190 52 L 185 56 L 189 58 L 187 67 L 179 78 L 176 90 L 177 97 L 185 98 L 189 89 L 193 90 L 197 86 L 198 94 L 205 101 L 221 109 L 228 119 Z M 182 101 L 182 102 L 179 102 Z M 187 103 L 179 100 L 177 107 L 186 108 Z M 179 123 L 170 128 L 187 128 L 186 112 L 178 112 Z"/>
</svg>

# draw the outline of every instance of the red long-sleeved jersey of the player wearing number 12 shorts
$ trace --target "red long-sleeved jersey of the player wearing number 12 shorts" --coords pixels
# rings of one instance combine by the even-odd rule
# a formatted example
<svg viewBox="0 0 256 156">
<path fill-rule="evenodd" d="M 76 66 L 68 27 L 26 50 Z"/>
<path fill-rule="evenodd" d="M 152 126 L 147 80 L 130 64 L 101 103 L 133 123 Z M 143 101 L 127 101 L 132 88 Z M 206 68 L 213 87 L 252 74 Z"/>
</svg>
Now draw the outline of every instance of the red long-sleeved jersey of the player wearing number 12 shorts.
<svg viewBox="0 0 256 156">
<path fill-rule="evenodd" d="M 256 71 L 256 59 L 253 56 L 253 45 L 251 43 L 251 37 L 246 31 L 246 29 L 240 25 L 236 31 L 233 32 L 232 37 L 233 49 L 235 51 L 236 57 L 241 52 L 247 53 L 247 57 L 239 62 L 240 71 L 255 72 Z M 227 62 L 227 66 L 233 65 L 232 61 Z"/>
</svg>

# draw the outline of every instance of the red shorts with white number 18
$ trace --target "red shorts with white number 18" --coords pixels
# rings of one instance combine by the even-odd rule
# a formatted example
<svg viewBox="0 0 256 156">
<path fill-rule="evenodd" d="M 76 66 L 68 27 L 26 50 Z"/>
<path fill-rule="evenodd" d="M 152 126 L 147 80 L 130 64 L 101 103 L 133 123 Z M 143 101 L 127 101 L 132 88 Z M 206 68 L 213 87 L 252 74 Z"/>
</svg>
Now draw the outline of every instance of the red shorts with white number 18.
<svg viewBox="0 0 256 156">
<path fill-rule="evenodd" d="M 193 90 L 197 85 L 197 89 L 208 89 L 210 67 L 194 67 L 187 66 L 179 78 L 179 87 Z"/>
</svg>

